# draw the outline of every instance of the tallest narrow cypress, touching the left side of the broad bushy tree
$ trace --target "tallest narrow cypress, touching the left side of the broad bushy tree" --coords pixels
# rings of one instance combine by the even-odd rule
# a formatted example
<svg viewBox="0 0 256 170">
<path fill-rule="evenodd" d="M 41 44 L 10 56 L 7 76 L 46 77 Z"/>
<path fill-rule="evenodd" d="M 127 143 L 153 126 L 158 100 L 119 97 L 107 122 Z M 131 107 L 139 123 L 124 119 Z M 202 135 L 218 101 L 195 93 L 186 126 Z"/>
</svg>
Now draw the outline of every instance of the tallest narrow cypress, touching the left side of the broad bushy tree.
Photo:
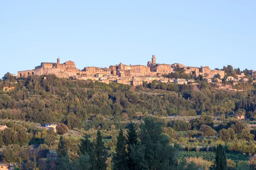
<svg viewBox="0 0 256 170">
<path fill-rule="evenodd" d="M 133 159 L 130 156 L 131 146 L 133 144 L 137 144 L 138 143 L 138 135 L 137 135 L 134 123 L 131 123 L 128 126 L 127 137 L 128 137 L 128 139 L 127 139 L 127 144 L 128 144 L 128 147 L 127 147 L 127 151 L 128 151 L 128 167 L 131 170 L 134 170 L 136 164 L 134 163 Z"/>
</svg>

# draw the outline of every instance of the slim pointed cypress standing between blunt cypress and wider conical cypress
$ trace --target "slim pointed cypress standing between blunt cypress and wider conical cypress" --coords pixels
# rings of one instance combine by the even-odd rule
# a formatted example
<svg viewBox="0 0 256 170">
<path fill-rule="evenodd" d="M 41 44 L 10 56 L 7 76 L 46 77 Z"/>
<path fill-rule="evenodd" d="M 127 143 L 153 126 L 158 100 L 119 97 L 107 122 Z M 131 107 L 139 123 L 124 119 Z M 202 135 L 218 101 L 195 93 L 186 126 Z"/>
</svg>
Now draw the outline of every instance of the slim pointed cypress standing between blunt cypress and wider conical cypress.
<svg viewBox="0 0 256 170">
<path fill-rule="evenodd" d="M 100 131 L 97 132 L 96 145 L 95 145 L 95 158 L 96 158 L 96 169 L 106 170 L 107 168 L 107 150 L 102 140 Z"/>
</svg>

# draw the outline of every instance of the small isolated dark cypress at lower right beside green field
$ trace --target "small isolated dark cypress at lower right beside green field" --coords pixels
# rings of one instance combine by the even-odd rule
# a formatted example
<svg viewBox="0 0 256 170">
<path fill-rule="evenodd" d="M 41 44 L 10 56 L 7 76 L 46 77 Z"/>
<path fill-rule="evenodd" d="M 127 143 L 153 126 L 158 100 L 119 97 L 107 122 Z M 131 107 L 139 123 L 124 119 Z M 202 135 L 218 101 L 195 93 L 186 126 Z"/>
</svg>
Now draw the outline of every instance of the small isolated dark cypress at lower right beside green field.
<svg viewBox="0 0 256 170">
<path fill-rule="evenodd" d="M 227 170 L 227 158 L 225 148 L 221 144 L 217 145 L 216 147 L 215 161 L 215 170 Z"/>
</svg>

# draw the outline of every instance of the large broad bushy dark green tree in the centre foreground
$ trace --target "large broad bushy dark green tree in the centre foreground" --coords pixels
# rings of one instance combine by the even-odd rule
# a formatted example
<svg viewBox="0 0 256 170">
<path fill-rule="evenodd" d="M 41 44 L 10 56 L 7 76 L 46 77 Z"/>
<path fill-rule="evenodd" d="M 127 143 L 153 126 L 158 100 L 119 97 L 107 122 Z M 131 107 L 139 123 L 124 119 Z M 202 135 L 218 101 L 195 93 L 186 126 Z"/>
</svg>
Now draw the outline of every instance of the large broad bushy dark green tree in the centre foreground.
<svg viewBox="0 0 256 170">
<path fill-rule="evenodd" d="M 140 142 L 131 146 L 131 157 L 137 169 L 170 170 L 177 168 L 177 150 L 162 134 L 162 123 L 146 118 L 140 126 Z"/>
</svg>

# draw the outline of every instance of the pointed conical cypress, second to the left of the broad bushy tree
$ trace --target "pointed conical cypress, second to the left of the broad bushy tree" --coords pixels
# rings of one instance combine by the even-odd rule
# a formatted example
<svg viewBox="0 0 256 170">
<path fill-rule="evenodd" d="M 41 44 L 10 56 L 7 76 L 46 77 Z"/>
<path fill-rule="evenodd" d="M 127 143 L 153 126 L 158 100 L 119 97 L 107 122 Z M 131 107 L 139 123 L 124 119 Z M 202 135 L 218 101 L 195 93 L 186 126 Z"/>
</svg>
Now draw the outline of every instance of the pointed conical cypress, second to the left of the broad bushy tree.
<svg viewBox="0 0 256 170">
<path fill-rule="evenodd" d="M 113 155 L 113 170 L 127 170 L 127 152 L 125 136 L 123 130 L 120 129 L 119 136 L 117 137 L 116 153 Z"/>
</svg>

